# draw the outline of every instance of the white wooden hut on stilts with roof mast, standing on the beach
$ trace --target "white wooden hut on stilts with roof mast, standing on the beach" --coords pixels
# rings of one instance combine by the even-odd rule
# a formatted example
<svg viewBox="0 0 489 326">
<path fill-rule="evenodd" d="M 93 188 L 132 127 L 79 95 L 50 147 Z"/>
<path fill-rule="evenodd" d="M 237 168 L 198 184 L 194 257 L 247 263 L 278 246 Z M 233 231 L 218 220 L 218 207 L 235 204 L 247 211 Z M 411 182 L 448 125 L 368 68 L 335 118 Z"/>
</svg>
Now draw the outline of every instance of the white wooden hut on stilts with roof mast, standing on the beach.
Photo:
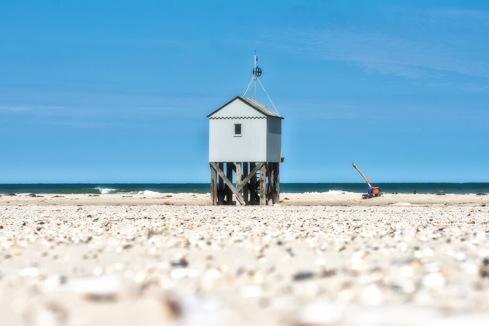
<svg viewBox="0 0 489 326">
<path fill-rule="evenodd" d="M 255 54 L 253 77 L 243 96 L 207 116 L 212 205 L 231 205 L 233 196 L 238 205 L 275 204 L 280 199 L 283 117 L 256 99 L 244 97 L 251 83 L 253 97 L 256 81 L 261 85 L 257 60 Z"/>
</svg>

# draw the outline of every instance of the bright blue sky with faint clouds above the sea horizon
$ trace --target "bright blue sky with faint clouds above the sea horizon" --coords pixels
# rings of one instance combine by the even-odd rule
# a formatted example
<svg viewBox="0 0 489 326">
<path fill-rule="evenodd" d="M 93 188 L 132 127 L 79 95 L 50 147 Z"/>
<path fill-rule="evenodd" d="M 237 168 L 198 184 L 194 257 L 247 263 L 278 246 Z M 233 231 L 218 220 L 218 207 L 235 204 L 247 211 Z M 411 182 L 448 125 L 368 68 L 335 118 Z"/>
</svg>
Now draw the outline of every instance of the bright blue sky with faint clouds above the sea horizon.
<svg viewBox="0 0 489 326">
<path fill-rule="evenodd" d="M 2 1 L 0 183 L 208 182 L 255 49 L 282 182 L 489 182 L 489 2 L 234 2 Z"/>
</svg>

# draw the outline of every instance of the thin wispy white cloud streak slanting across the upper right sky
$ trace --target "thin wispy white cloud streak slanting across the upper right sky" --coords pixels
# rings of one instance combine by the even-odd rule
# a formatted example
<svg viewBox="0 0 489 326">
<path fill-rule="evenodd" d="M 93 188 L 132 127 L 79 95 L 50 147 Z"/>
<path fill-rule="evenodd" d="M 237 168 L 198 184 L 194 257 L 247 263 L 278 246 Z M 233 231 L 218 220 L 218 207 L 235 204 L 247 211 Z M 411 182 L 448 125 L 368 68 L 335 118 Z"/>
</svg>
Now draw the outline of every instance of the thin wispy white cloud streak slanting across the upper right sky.
<svg viewBox="0 0 489 326">
<path fill-rule="evenodd" d="M 441 77 L 443 71 L 489 77 L 489 63 L 470 59 L 466 50 L 423 44 L 374 33 L 337 29 L 275 29 L 267 39 L 276 47 L 315 59 L 356 64 L 367 71 L 408 78 Z"/>
</svg>

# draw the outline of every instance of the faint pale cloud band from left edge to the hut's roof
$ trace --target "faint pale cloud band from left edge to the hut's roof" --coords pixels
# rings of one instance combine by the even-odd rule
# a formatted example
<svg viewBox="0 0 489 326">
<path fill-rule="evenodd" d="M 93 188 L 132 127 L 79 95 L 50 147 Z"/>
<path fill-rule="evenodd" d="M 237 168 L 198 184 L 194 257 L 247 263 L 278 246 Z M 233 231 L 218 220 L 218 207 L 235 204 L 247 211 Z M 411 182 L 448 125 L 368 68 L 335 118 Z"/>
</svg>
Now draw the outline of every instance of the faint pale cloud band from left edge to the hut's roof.
<svg viewBox="0 0 489 326">
<path fill-rule="evenodd" d="M 24 93 L 27 93 L 28 96 L 25 96 Z M 37 90 L 22 87 L 0 87 L 0 97 L 4 97 L 4 102 L 12 103 L 0 105 L 0 112 L 60 117 L 92 115 L 196 117 L 206 116 L 222 102 L 222 98 L 212 96 Z"/>
</svg>

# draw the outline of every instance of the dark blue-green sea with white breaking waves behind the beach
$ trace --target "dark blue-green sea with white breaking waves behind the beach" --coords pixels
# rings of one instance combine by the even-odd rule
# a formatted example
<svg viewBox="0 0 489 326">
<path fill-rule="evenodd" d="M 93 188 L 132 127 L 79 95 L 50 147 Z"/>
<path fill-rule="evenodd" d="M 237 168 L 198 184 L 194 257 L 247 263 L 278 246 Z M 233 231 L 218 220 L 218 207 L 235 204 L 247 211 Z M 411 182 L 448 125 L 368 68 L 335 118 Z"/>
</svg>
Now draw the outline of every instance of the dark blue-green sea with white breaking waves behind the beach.
<svg viewBox="0 0 489 326">
<path fill-rule="evenodd" d="M 384 193 L 489 193 L 489 183 L 376 183 Z M 210 184 L 0 184 L 0 194 L 209 193 Z M 281 193 L 365 193 L 365 183 L 281 183 Z"/>
</svg>

